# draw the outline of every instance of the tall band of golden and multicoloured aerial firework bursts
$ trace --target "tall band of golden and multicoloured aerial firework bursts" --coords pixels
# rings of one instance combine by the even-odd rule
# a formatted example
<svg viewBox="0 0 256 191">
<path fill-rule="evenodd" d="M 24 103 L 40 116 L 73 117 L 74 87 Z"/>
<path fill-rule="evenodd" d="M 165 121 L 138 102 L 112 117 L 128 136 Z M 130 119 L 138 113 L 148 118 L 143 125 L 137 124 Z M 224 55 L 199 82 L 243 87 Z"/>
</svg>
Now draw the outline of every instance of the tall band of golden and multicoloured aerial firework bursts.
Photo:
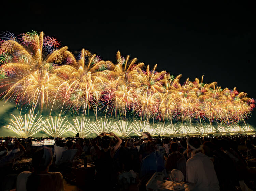
<svg viewBox="0 0 256 191">
<path fill-rule="evenodd" d="M 85 114 L 100 110 L 105 116 L 134 119 L 198 121 L 218 126 L 238 125 L 255 107 L 254 99 L 236 88 L 203 83 L 203 77 L 180 84 L 180 77 L 150 70 L 136 58 L 116 55 L 116 64 L 82 49 L 77 55 L 60 47 L 44 33 L 4 33 L 0 42 L 1 96 L 19 107 L 44 109 L 57 105 Z M 51 110 L 52 111 L 52 110 Z M 50 113 L 51 115 L 51 113 Z"/>
</svg>

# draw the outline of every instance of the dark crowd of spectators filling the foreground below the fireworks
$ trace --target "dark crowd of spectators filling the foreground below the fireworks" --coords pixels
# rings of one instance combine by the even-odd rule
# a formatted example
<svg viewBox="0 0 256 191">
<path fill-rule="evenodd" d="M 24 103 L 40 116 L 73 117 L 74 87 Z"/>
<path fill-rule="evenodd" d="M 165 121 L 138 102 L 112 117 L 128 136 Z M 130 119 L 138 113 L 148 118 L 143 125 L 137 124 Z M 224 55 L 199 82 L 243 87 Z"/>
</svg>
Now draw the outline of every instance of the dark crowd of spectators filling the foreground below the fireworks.
<svg viewBox="0 0 256 191">
<path fill-rule="evenodd" d="M 94 139 L 56 138 L 54 145 L 44 146 L 33 146 L 31 138 L 3 140 L 2 190 L 64 190 L 64 181 L 76 184 L 70 169 L 84 157 L 95 165 L 87 186 L 96 190 L 146 190 L 155 172 L 167 177 L 173 169 L 180 170 L 195 190 L 240 190 L 241 183 L 256 188 L 255 135 L 168 138 L 144 132 L 142 137 L 119 138 L 110 132 Z M 32 167 L 16 165 L 29 158 Z"/>
</svg>

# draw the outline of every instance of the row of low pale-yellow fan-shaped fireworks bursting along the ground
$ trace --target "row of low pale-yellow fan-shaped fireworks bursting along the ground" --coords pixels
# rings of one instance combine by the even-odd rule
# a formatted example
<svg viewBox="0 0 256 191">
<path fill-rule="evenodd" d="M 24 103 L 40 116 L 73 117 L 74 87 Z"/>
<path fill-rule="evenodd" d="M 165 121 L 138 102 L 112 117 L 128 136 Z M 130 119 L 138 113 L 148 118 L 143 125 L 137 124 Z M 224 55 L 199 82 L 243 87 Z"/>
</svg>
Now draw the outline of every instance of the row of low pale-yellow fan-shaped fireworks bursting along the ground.
<svg viewBox="0 0 256 191">
<path fill-rule="evenodd" d="M 234 133 L 234 132 L 246 132 L 250 133 L 254 131 L 250 126 L 240 127 L 238 125 L 230 125 L 228 127 L 218 126 L 215 128 L 210 124 L 204 124 L 199 126 L 189 126 L 182 124 L 164 124 L 157 123 L 155 128 L 152 124 L 144 121 L 134 121 L 130 123 L 126 120 L 119 120 L 111 122 L 108 119 L 98 119 L 95 122 L 90 121 L 86 117 L 80 117 L 71 121 L 65 120 L 65 117 L 60 115 L 57 117 L 49 116 L 43 119 L 41 116 L 33 115 L 30 110 L 29 114 L 22 116 L 13 116 L 11 123 L 5 126 L 11 129 L 17 135 L 23 138 L 34 136 L 39 131 L 44 131 L 48 136 L 61 137 L 66 132 L 72 132 L 74 134 L 79 133 L 80 137 L 92 136 L 93 133 L 100 135 L 103 132 L 115 132 L 118 136 L 128 137 L 131 135 L 141 136 L 142 132 L 149 132 L 151 135 L 174 135 L 174 134 L 212 134 L 215 132 L 221 133 Z"/>
</svg>

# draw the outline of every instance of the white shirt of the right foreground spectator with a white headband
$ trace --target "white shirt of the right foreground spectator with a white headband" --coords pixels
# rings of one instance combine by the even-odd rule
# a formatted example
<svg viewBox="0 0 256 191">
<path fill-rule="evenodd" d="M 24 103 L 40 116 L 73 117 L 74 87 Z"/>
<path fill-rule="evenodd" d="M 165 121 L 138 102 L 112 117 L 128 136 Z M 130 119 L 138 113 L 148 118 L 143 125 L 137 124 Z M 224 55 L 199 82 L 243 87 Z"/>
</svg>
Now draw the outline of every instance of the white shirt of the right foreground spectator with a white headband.
<svg viewBox="0 0 256 191">
<path fill-rule="evenodd" d="M 218 191 L 219 181 L 212 161 L 203 153 L 196 153 L 186 163 L 186 181 L 195 183 L 197 191 Z"/>
</svg>

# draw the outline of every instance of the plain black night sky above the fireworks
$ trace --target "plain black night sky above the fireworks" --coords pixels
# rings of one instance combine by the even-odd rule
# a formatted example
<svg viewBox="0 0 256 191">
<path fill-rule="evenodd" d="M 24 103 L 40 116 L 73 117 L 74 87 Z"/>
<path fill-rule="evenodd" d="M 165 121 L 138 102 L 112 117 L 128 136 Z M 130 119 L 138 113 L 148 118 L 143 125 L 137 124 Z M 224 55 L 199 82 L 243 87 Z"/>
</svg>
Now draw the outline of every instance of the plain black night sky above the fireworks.
<svg viewBox="0 0 256 191">
<path fill-rule="evenodd" d="M 115 61 L 119 50 L 151 68 L 158 64 L 158 71 L 182 74 L 182 84 L 187 78 L 193 81 L 204 75 L 204 83 L 217 81 L 222 88 L 237 87 L 256 98 L 253 4 L 127 3 L 99 7 L 97 3 L 41 3 L 26 8 L 21 3 L 12 11 L 5 10 L 8 19 L 1 23 L 1 31 L 16 35 L 43 31 L 72 52 L 85 48 L 103 60 Z M 247 122 L 256 125 L 254 113 Z"/>
</svg>

